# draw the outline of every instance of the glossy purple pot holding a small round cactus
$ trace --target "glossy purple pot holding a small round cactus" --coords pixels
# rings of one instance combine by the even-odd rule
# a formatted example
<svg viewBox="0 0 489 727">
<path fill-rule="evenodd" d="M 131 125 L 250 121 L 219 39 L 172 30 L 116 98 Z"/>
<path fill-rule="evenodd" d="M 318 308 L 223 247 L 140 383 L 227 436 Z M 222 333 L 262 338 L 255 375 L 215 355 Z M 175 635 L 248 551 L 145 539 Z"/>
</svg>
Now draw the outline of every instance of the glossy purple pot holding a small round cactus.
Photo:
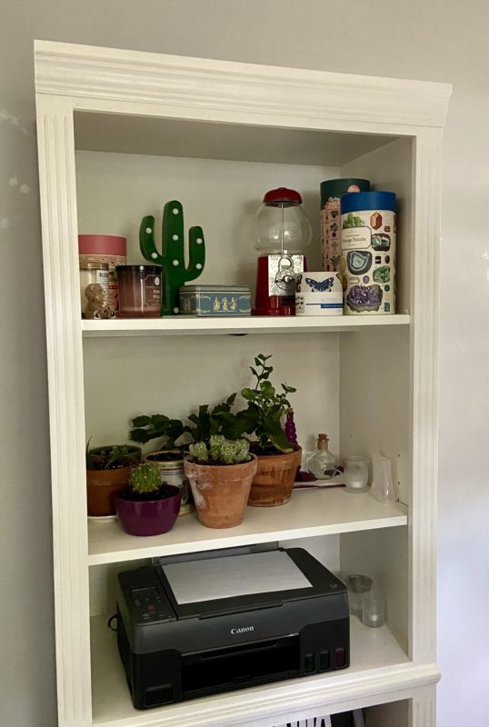
<svg viewBox="0 0 489 727">
<path fill-rule="evenodd" d="M 115 510 L 126 533 L 130 535 L 161 535 L 175 525 L 180 511 L 181 491 L 165 484 L 157 500 L 135 500 L 133 493 L 119 490 L 115 494 Z"/>
</svg>

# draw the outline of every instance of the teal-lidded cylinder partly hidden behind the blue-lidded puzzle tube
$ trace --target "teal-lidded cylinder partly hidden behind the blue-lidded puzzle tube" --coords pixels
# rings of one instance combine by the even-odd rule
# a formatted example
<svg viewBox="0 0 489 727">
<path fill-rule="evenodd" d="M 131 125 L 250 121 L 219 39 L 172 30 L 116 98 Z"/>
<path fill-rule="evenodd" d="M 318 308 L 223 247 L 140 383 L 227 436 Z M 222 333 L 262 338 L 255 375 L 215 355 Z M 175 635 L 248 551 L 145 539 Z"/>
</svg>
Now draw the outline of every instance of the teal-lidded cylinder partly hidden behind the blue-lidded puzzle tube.
<svg viewBox="0 0 489 727">
<path fill-rule="evenodd" d="M 347 192 L 370 189 L 368 179 L 327 179 L 321 183 L 321 268 L 338 271 L 341 264 L 340 199 Z"/>
</svg>

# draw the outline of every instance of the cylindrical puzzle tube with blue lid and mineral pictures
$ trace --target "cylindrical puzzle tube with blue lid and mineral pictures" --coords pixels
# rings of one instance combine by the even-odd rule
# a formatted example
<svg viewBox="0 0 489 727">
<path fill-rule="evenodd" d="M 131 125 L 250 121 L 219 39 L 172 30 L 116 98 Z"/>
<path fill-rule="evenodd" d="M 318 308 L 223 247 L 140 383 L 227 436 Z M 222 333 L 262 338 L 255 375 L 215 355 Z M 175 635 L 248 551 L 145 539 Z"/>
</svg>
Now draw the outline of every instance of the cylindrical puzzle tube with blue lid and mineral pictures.
<svg viewBox="0 0 489 727">
<path fill-rule="evenodd" d="M 396 209 L 394 192 L 341 199 L 344 314 L 395 313 Z"/>
</svg>

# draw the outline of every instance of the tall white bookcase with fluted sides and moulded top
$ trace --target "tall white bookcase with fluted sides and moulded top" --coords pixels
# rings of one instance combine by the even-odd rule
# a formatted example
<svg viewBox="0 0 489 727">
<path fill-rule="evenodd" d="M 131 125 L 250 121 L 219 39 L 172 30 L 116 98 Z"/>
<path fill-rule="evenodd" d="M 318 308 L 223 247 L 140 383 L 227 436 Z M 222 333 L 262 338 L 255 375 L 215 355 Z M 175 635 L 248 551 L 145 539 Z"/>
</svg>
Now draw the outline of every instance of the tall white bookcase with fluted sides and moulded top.
<svg viewBox="0 0 489 727">
<path fill-rule="evenodd" d="M 450 86 L 39 41 L 35 88 L 60 727 L 272 727 L 383 704 L 391 719 L 434 727 L 440 159 Z M 318 231 L 319 182 L 346 175 L 398 194 L 398 314 L 80 320 L 78 232 L 124 234 L 138 262 L 143 214 L 159 226 L 176 197 L 185 226 L 205 230 L 202 282 L 253 285 L 245 230 L 264 191 L 299 187 Z M 328 431 L 342 455 L 382 449 L 401 502 L 308 490 L 283 507 L 248 508 L 229 531 L 195 515 L 155 538 L 128 536 L 114 521 L 87 525 L 88 437 L 126 441 L 138 413 L 180 417 L 239 391 L 258 351 L 274 354 L 279 380 L 300 392 L 304 447 Z M 373 574 L 384 589 L 383 628 L 352 619 L 352 665 L 136 712 L 106 628 L 115 573 L 156 555 L 291 541 L 331 570 Z"/>
</svg>

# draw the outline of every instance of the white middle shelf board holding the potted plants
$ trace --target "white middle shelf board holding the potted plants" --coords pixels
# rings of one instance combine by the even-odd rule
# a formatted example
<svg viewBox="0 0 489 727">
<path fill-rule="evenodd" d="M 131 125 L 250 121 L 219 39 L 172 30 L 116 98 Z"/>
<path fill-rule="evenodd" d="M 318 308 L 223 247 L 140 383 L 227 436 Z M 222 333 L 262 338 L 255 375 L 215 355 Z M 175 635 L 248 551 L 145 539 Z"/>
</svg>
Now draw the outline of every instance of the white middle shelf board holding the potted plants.
<svg viewBox="0 0 489 727">
<path fill-rule="evenodd" d="M 90 520 L 88 563 L 120 563 L 406 524 L 407 508 L 401 503 L 377 503 L 369 493 L 351 494 L 343 488 L 299 490 L 280 507 L 247 508 L 244 523 L 224 530 L 204 527 L 195 513 L 179 518 L 169 533 L 152 537 L 128 535 L 116 520 Z"/>
</svg>

